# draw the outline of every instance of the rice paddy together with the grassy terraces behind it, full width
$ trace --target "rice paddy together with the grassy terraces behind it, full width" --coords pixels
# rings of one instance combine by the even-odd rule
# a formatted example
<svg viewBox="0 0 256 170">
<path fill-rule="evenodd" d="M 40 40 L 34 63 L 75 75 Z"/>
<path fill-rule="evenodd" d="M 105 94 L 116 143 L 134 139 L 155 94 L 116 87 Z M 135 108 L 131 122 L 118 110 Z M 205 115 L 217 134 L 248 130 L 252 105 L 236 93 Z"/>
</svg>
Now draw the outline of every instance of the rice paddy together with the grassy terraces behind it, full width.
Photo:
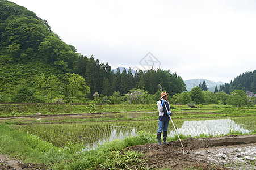
<svg viewBox="0 0 256 170">
<path fill-rule="evenodd" d="M 15 107 L 18 107 L 15 105 Z M 38 105 L 36 112 L 38 110 Z M 40 105 L 39 107 L 43 107 Z M 55 108 L 56 106 L 54 106 Z M 57 106 L 60 108 L 61 106 Z M 63 106 L 66 110 L 67 107 Z M 158 129 L 158 112 L 154 105 L 150 105 L 148 111 L 132 111 L 145 107 L 120 105 L 117 110 L 128 112 L 107 112 L 108 106 L 78 105 L 74 108 L 79 113 L 62 112 L 58 109 L 57 114 L 44 113 L 32 114 L 32 106 L 28 107 L 28 116 L 0 118 L 0 122 L 13 124 L 15 129 L 35 135 L 44 141 L 53 143 L 57 147 L 63 147 L 66 142 L 82 144 L 86 148 L 94 148 L 98 144 L 113 141 L 114 139 L 124 139 L 131 135 L 136 135 L 138 131 L 144 130 L 151 134 L 156 134 Z M 84 107 L 84 109 L 82 109 Z M 97 107 L 100 107 L 98 110 Z M 186 105 L 175 105 L 172 109 L 173 122 L 180 135 L 186 137 L 218 136 L 231 133 L 246 134 L 256 129 L 256 108 L 230 108 L 216 105 L 200 105 L 199 109 L 191 109 Z M 6 107 L 5 107 L 6 108 Z M 14 106 L 11 107 L 12 109 Z M 19 109 L 21 107 L 18 107 Z M 26 107 L 22 106 L 23 111 Z M 51 107 L 45 107 L 49 111 Z M 46 109 L 43 108 L 43 111 Z M 93 113 L 88 111 L 93 108 Z M 111 111 L 115 108 L 110 106 Z M 154 108 L 154 109 L 152 109 Z M 139 109 L 138 109 L 139 110 Z M 18 114 L 16 111 L 12 111 Z M 32 114 L 32 115 L 31 115 Z M 31 115 L 31 116 L 30 116 Z M 175 131 L 171 121 L 167 137 L 174 137 Z"/>
</svg>

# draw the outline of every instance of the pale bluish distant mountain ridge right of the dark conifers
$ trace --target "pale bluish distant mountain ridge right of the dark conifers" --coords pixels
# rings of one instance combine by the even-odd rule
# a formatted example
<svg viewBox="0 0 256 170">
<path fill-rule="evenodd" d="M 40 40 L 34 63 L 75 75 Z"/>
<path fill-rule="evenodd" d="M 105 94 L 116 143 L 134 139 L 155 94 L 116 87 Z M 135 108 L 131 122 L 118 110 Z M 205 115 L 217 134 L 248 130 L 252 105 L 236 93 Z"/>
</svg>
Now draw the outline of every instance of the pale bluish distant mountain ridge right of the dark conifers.
<svg viewBox="0 0 256 170">
<path fill-rule="evenodd" d="M 187 91 L 190 91 L 192 88 L 198 86 L 200 83 L 203 84 L 205 80 L 205 83 L 207 85 L 207 88 L 209 91 L 212 91 L 214 92 L 215 90 L 215 87 L 217 86 L 218 89 L 220 87 L 220 84 L 225 84 L 224 82 L 214 82 L 214 81 L 211 81 L 211 80 L 207 80 L 207 79 L 191 79 L 191 80 L 185 80 L 184 83 L 186 84 L 187 86 Z"/>
</svg>

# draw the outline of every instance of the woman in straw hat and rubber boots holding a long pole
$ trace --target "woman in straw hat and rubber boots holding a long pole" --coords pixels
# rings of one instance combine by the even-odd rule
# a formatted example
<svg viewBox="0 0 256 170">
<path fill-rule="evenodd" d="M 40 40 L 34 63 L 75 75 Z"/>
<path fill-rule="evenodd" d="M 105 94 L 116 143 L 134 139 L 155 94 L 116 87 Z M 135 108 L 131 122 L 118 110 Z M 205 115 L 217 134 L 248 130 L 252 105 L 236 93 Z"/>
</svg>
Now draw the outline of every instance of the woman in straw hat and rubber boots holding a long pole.
<svg viewBox="0 0 256 170">
<path fill-rule="evenodd" d="M 166 142 L 167 137 L 167 130 L 169 121 L 171 120 L 169 116 L 171 116 L 171 108 L 170 103 L 167 100 L 169 94 L 166 94 L 166 92 L 161 93 L 161 98 L 159 101 L 157 101 L 157 107 L 159 111 L 159 118 L 158 118 L 158 130 L 157 130 L 157 140 L 158 145 L 162 146 L 161 144 L 161 133 L 163 131 L 163 143 L 169 144 Z"/>
</svg>

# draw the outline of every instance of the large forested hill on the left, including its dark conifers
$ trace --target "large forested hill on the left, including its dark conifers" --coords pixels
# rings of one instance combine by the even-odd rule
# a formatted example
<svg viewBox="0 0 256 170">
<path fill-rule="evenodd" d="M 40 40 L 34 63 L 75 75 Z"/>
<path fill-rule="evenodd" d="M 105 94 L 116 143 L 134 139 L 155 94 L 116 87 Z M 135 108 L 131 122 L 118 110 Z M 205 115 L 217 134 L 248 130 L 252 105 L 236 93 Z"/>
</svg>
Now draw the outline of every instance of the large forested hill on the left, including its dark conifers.
<svg viewBox="0 0 256 170">
<path fill-rule="evenodd" d="M 169 70 L 114 73 L 108 63 L 77 53 L 46 20 L 7 0 L 0 0 L 0 37 L 0 102 L 86 102 L 95 92 L 124 95 L 140 88 L 156 94 L 162 88 L 173 95 L 186 90 L 181 76 Z"/>
</svg>

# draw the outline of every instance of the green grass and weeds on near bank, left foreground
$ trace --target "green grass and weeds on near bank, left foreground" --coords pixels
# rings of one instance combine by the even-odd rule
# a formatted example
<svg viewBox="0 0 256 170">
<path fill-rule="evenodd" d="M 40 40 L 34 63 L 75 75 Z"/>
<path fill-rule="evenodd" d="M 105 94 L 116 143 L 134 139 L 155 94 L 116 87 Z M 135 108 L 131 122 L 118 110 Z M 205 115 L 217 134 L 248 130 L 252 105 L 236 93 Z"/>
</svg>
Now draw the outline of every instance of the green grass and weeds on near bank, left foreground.
<svg viewBox="0 0 256 170">
<path fill-rule="evenodd" d="M 84 150 L 82 145 L 67 142 L 62 148 L 55 147 L 51 143 L 44 142 L 38 137 L 10 128 L 8 125 L 0 125 L 0 152 L 24 162 L 45 163 L 49 168 L 56 169 L 98 169 L 120 168 L 123 169 L 132 164 L 145 162 L 143 155 L 132 151 L 121 151 L 123 148 L 133 145 L 156 142 L 151 140 L 152 135 L 140 132 L 136 137 L 127 138 L 124 141 L 114 140 L 104 143 L 95 150 Z M 154 138 L 156 138 L 154 136 Z M 11 142 L 10 142 L 11 141 Z M 84 150 L 82 152 L 82 150 Z M 121 151 L 121 152 L 120 152 Z M 143 165 L 142 165 L 143 167 Z"/>
</svg>

